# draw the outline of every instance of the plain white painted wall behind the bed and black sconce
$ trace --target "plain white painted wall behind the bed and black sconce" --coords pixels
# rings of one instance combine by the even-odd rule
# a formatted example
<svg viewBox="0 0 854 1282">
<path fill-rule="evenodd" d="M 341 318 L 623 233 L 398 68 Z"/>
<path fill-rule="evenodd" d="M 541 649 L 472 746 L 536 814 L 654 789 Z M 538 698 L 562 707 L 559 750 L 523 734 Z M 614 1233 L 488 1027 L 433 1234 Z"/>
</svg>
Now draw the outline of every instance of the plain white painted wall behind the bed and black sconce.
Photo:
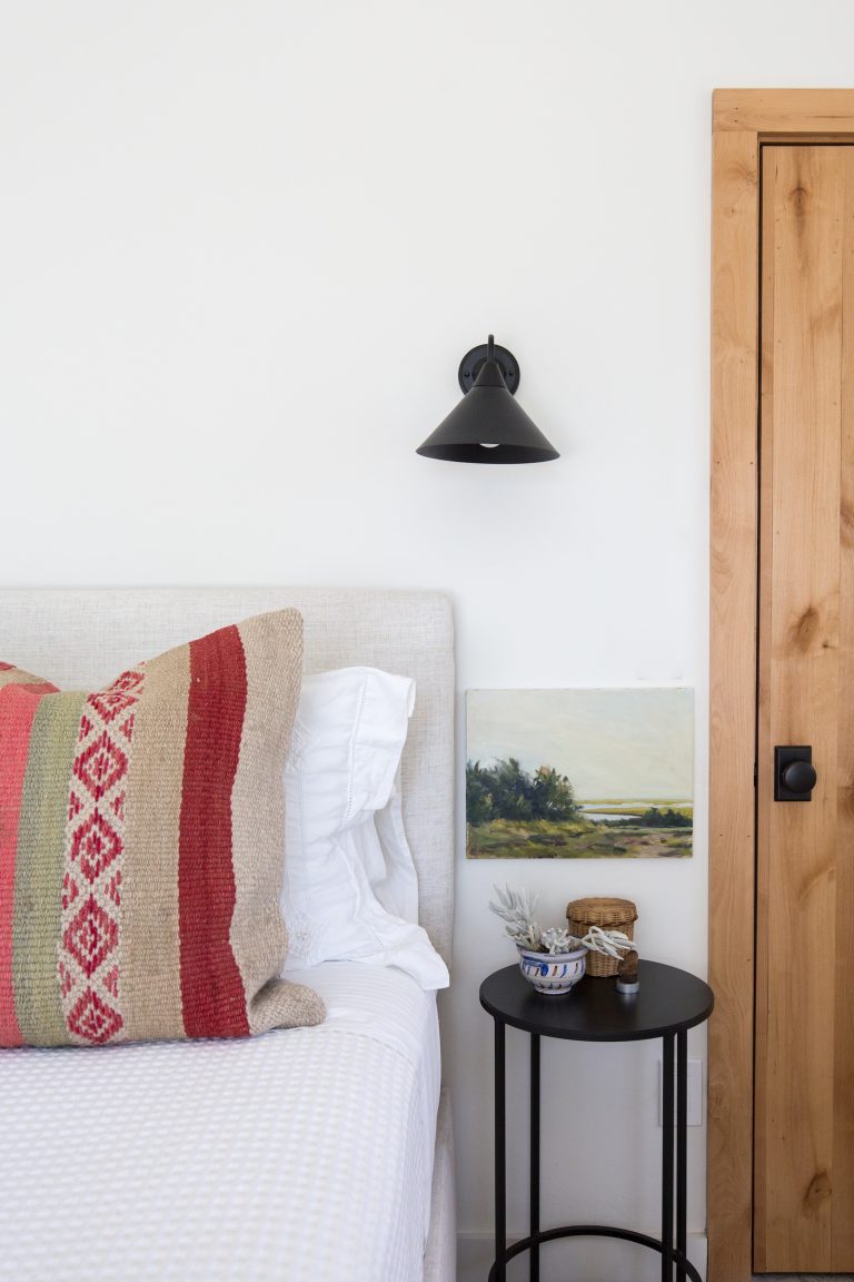
<svg viewBox="0 0 854 1282">
<path fill-rule="evenodd" d="M 705 965 L 711 90 L 850 82 L 854 14 L 37 0 L 1 17 L 3 581 L 439 587 L 461 691 L 697 686 L 691 862 L 466 864 L 461 826 L 446 1056 L 474 1241 L 492 1222 L 478 986 L 511 960 L 492 882 L 536 887 L 556 919 L 570 897 L 630 896 L 647 955 Z M 416 458 L 488 329 L 558 463 Z M 510 1049 L 521 1092 L 524 1038 Z M 545 1046 L 547 1218 L 654 1231 L 656 1058 Z M 525 1194 L 520 1161 L 516 1232 Z M 654 1263 L 571 1250 L 579 1277 Z"/>
</svg>

